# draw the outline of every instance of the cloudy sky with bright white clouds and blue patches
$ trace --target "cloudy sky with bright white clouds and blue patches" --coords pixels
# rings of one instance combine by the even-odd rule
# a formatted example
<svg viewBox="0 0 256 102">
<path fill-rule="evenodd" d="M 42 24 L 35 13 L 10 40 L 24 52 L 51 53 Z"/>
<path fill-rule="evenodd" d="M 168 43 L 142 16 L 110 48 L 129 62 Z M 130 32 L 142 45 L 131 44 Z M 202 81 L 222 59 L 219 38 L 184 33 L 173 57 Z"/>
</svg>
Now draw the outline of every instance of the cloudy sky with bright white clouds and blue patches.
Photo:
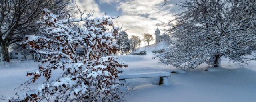
<svg viewBox="0 0 256 102">
<path fill-rule="evenodd" d="M 167 29 L 168 21 L 174 13 L 180 12 L 176 4 L 180 0 L 76 0 L 78 6 L 86 11 L 94 10 L 94 16 L 106 15 L 118 17 L 114 24 L 122 24 L 122 30 L 126 30 L 128 36 L 138 35 L 143 38 L 144 33 L 150 33 L 155 37 L 154 31 Z M 163 33 L 163 31 L 161 32 Z M 153 44 L 151 42 L 150 44 Z M 142 42 L 142 46 L 145 42 Z"/>
</svg>

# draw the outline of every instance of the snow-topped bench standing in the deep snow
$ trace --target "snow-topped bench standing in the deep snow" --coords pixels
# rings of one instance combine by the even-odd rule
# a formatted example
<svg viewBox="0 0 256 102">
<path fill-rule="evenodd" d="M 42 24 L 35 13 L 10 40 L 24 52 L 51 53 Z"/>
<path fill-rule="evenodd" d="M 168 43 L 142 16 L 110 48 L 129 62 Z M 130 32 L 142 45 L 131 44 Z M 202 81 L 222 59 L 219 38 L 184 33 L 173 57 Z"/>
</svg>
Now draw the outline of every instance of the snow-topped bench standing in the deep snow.
<svg viewBox="0 0 256 102">
<path fill-rule="evenodd" d="M 132 79 L 132 78 L 152 78 L 152 77 L 159 77 L 159 84 L 158 85 L 170 85 L 168 78 L 171 76 L 170 72 L 146 72 L 146 73 L 132 73 L 132 74 L 119 74 L 118 79 L 120 82 L 126 84 L 125 79 Z M 127 87 L 125 87 L 127 90 Z"/>
</svg>

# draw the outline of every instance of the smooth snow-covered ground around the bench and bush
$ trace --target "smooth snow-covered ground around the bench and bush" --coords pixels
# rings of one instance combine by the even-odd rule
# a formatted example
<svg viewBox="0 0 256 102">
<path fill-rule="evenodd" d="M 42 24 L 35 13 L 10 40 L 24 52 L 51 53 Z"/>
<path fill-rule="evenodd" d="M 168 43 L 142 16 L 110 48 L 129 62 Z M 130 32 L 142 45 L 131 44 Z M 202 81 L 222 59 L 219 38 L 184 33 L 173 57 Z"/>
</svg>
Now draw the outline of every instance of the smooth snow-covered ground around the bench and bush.
<svg viewBox="0 0 256 102">
<path fill-rule="evenodd" d="M 200 65 L 198 69 L 182 71 L 158 63 L 158 59 L 151 59 L 153 56 L 150 51 L 141 56 L 115 56 L 128 64 L 128 68 L 122 69 L 124 73 L 179 72 L 168 77 L 170 86 L 158 86 L 159 78 L 126 80 L 130 83 L 129 89 L 135 89 L 124 97 L 126 102 L 256 102 L 256 61 L 244 67 L 237 64 L 229 67 L 228 59 L 222 58 L 224 68 L 202 71 L 207 65 Z M 38 64 L 32 61 L 0 63 L 0 95 L 14 96 L 17 90 L 13 89 L 29 78 L 26 71 L 36 69 Z"/>
</svg>

